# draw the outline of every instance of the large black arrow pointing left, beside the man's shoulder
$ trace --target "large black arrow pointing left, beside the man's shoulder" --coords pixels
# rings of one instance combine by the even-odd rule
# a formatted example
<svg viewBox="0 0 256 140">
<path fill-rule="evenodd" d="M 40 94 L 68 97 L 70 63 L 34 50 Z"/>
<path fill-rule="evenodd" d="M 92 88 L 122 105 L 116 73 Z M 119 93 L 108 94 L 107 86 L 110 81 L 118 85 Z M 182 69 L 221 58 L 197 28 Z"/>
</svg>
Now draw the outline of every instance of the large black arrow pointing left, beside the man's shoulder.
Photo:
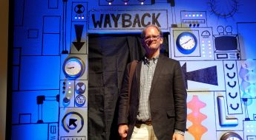
<svg viewBox="0 0 256 140">
<path fill-rule="evenodd" d="M 211 66 L 204 69 L 187 72 L 187 64 L 184 63 L 182 68 L 185 77 L 186 88 L 188 89 L 188 80 L 218 85 L 217 83 L 217 66 Z"/>
</svg>

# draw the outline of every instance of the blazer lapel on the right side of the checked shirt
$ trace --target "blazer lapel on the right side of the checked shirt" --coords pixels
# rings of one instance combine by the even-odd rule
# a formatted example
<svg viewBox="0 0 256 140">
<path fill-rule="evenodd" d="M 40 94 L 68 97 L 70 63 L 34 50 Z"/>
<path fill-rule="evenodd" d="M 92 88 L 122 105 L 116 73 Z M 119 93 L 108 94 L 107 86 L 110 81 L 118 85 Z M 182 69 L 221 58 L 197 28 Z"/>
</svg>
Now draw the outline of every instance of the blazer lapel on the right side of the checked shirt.
<svg viewBox="0 0 256 140">
<path fill-rule="evenodd" d="M 151 89 L 150 89 L 150 93 L 153 91 L 154 87 L 157 85 L 157 79 L 159 77 L 159 75 L 161 74 L 161 71 L 163 69 L 164 66 L 164 60 L 163 60 L 163 55 L 160 55 L 158 60 L 157 60 L 157 66 L 156 69 L 154 70 L 154 77 L 151 83 Z"/>
</svg>

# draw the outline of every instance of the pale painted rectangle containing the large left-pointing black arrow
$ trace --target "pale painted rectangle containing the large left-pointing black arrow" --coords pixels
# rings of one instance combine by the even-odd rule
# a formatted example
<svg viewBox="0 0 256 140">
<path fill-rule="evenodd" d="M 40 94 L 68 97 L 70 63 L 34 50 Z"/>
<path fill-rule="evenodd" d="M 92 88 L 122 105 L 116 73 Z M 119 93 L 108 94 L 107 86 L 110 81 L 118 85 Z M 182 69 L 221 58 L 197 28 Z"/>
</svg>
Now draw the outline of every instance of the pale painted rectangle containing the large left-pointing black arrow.
<svg viewBox="0 0 256 140">
<path fill-rule="evenodd" d="M 222 61 L 180 61 L 187 91 L 225 91 Z"/>
</svg>

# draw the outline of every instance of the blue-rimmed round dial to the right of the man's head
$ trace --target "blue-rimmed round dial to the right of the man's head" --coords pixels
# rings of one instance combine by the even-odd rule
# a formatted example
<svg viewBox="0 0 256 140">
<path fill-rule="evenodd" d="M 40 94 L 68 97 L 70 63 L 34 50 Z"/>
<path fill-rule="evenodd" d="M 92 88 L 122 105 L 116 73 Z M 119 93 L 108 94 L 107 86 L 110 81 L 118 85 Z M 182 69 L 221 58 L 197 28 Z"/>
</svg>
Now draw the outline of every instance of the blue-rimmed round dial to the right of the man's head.
<svg viewBox="0 0 256 140">
<path fill-rule="evenodd" d="M 183 32 L 177 37 L 177 49 L 183 54 L 191 54 L 197 47 L 197 38 L 191 32 Z"/>
</svg>

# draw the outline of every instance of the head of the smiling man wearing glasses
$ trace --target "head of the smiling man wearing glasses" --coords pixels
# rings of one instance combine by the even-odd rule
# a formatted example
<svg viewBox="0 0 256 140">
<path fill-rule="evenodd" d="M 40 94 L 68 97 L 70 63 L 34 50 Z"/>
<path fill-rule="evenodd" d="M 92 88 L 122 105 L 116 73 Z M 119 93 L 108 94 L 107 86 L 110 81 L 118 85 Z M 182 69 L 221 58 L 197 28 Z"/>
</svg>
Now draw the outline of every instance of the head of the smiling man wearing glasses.
<svg viewBox="0 0 256 140">
<path fill-rule="evenodd" d="M 156 25 L 148 25 L 142 31 L 142 45 L 147 55 L 159 55 L 163 43 L 163 32 Z"/>
</svg>

